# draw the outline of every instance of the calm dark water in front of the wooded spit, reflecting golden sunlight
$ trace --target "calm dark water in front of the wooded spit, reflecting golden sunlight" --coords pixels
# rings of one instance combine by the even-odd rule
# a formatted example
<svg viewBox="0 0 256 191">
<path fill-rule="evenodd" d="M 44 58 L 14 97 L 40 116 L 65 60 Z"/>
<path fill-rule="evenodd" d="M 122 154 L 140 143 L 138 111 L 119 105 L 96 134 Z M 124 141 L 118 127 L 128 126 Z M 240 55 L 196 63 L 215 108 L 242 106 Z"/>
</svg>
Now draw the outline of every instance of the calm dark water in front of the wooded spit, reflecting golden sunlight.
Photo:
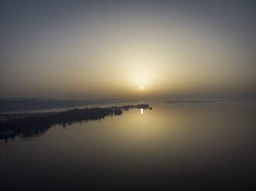
<svg viewBox="0 0 256 191">
<path fill-rule="evenodd" d="M 1 140 L 0 189 L 255 189 L 255 106 L 155 103 Z"/>
</svg>

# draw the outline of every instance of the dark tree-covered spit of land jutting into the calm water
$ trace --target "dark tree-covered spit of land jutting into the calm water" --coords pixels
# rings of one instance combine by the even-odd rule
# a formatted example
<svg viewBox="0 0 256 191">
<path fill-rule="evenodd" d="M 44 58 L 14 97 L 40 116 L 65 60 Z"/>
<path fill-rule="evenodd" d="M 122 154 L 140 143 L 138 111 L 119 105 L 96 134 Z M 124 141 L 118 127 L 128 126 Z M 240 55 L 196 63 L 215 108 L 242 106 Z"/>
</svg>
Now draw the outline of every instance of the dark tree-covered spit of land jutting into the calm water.
<svg viewBox="0 0 256 191">
<path fill-rule="evenodd" d="M 101 120 L 106 116 L 121 116 L 129 109 L 152 109 L 148 104 L 69 109 L 63 112 L 25 112 L 0 114 L 0 139 L 15 136 L 39 136 L 51 126 L 73 122 Z"/>
</svg>

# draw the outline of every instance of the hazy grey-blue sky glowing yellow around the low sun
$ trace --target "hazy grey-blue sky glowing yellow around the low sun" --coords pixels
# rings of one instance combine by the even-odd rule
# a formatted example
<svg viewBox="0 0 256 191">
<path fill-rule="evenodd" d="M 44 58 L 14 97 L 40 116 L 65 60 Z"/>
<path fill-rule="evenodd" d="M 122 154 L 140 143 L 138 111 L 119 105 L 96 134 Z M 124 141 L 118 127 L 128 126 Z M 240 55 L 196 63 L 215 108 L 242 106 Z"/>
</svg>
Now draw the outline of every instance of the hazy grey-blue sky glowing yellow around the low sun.
<svg viewBox="0 0 256 191">
<path fill-rule="evenodd" d="M 256 96 L 255 1 L 1 1 L 0 19 L 0 97 Z"/>
</svg>

